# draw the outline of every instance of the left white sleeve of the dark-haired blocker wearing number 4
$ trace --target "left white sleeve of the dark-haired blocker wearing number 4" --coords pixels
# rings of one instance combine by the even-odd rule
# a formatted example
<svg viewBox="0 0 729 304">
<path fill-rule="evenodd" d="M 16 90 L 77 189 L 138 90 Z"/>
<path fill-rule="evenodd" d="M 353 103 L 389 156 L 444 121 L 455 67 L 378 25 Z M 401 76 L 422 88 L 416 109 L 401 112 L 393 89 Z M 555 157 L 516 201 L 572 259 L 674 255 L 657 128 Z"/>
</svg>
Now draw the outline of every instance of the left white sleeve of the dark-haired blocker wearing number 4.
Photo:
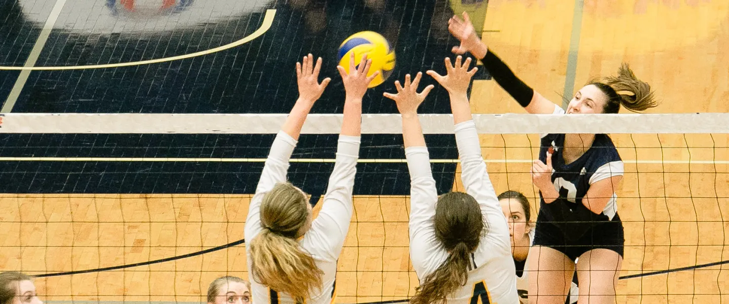
<svg viewBox="0 0 729 304">
<path fill-rule="evenodd" d="M 410 171 L 410 260 L 418 278 L 436 270 L 447 257 L 435 238 L 433 217 L 438 194 L 426 147 L 405 149 Z M 503 216 L 502 216 L 503 217 Z"/>
</svg>

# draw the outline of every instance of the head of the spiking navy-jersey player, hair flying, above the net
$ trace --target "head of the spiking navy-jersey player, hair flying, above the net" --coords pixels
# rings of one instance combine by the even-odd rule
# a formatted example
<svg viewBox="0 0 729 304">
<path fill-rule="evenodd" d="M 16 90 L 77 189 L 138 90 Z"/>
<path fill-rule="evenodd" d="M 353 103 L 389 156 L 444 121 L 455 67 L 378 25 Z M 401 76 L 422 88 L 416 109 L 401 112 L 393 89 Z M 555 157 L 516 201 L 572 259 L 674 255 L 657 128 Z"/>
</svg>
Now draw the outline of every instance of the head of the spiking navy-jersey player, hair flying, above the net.
<svg viewBox="0 0 729 304">
<path fill-rule="evenodd" d="M 657 106 L 650 85 L 640 81 L 628 64 L 623 63 L 617 77 L 590 80 L 567 105 L 567 114 L 615 114 L 620 106 L 633 112 Z"/>
</svg>

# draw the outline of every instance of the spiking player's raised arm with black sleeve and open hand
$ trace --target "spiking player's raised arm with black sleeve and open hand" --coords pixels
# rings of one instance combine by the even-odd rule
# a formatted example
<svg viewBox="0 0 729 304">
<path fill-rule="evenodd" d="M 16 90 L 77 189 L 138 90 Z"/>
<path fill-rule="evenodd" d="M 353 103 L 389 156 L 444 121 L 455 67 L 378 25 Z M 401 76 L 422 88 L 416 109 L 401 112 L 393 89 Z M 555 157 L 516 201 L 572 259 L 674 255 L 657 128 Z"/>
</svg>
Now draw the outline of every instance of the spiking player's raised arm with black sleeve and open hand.
<svg viewBox="0 0 729 304">
<path fill-rule="evenodd" d="M 486 44 L 476 34 L 466 12 L 463 12 L 463 20 L 458 16 L 451 17 L 451 20 L 448 20 L 448 30 L 461 41 L 461 45 L 453 47 L 453 52 L 456 54 L 471 52 L 480 59 L 496 83 L 516 99 L 526 109 L 526 112 L 531 114 L 553 114 L 555 112 L 556 104 L 516 77 L 509 66 L 486 47 Z"/>
</svg>

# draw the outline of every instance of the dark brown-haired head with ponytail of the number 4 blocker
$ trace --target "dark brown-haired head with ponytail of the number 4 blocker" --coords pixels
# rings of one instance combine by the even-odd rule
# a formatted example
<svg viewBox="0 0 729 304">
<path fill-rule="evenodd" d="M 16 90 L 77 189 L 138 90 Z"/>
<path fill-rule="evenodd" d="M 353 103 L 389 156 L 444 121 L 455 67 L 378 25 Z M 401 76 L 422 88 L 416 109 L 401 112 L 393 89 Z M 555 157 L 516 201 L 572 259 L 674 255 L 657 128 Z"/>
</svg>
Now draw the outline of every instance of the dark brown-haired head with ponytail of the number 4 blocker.
<svg viewBox="0 0 729 304">
<path fill-rule="evenodd" d="M 446 298 L 468 280 L 471 253 L 485 232 L 481 209 L 475 198 L 464 192 L 448 192 L 435 206 L 435 238 L 443 243 L 450 256 L 416 289 L 410 303 L 445 303 Z"/>
</svg>

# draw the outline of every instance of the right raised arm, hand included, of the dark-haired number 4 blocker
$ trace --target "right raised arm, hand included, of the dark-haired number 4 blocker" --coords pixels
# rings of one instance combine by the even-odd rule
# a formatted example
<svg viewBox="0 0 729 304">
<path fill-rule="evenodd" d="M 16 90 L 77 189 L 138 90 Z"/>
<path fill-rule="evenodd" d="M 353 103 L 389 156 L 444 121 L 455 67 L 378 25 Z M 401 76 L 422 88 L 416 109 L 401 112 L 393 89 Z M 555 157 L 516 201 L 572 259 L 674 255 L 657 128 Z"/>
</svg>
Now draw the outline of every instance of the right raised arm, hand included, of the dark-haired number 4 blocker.
<svg viewBox="0 0 729 304">
<path fill-rule="evenodd" d="M 467 89 L 477 68 L 468 70 L 471 58 L 461 64 L 461 56 L 456 58 L 455 66 L 451 59 L 445 58 L 446 76 L 435 71 L 427 71 L 440 85 L 448 90 L 451 96 L 451 111 L 456 125 L 456 145 L 461 160 L 461 181 L 466 193 L 476 199 L 481 214 L 488 222 L 488 236 L 494 236 L 509 245 L 509 227 L 502 213 L 499 199 L 496 198 L 494 186 L 488 178 L 486 163 L 481 156 L 481 145 L 478 139 L 475 122 L 471 119 L 471 107 L 468 103 Z"/>
</svg>

